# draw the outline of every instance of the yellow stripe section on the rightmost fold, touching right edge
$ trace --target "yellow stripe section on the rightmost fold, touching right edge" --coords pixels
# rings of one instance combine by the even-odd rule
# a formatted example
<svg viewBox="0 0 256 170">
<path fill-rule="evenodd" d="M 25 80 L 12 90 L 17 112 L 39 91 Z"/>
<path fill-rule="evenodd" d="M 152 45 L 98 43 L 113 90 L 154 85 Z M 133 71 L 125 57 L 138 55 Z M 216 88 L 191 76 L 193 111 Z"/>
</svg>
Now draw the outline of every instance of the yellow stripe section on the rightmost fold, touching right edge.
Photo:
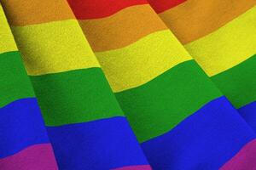
<svg viewBox="0 0 256 170">
<path fill-rule="evenodd" d="M 240 64 L 256 52 L 256 7 L 206 37 L 185 45 L 212 77 Z"/>
</svg>

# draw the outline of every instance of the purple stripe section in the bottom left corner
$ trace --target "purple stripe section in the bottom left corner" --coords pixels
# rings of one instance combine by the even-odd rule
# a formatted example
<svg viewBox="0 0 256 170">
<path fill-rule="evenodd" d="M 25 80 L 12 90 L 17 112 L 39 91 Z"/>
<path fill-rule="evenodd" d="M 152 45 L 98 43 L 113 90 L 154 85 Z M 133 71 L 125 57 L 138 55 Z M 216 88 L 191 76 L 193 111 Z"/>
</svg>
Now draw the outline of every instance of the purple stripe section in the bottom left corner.
<svg viewBox="0 0 256 170">
<path fill-rule="evenodd" d="M 56 170 L 55 156 L 50 144 L 35 144 L 0 159 L 1 170 Z"/>
</svg>

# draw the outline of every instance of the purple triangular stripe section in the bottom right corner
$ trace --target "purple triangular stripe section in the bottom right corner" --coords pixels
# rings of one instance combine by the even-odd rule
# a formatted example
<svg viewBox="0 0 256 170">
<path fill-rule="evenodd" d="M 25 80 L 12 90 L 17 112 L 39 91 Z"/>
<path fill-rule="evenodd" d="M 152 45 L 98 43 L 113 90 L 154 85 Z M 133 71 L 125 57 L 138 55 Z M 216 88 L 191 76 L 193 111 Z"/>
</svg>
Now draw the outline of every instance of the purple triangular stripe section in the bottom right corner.
<svg viewBox="0 0 256 170">
<path fill-rule="evenodd" d="M 246 144 L 237 154 L 227 161 L 221 170 L 256 169 L 256 139 Z"/>
</svg>

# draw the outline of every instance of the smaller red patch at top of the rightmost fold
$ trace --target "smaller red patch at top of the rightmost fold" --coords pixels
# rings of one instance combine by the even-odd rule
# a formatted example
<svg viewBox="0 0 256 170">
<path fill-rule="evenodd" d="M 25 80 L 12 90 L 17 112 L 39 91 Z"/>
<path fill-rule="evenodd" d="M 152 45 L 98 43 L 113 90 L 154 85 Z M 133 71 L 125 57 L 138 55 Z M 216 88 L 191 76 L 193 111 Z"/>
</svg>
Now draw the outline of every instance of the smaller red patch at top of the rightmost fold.
<svg viewBox="0 0 256 170">
<path fill-rule="evenodd" d="M 186 0 L 148 0 L 151 7 L 154 8 L 156 13 L 161 13 L 169 8 L 175 7 Z"/>
</svg>

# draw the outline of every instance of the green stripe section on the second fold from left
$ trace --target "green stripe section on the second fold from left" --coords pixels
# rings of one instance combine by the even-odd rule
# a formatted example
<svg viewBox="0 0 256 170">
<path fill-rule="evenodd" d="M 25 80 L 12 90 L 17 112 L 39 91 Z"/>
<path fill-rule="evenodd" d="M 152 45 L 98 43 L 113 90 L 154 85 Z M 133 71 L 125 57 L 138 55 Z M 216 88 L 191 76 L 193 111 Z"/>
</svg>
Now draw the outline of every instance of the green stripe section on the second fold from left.
<svg viewBox="0 0 256 170">
<path fill-rule="evenodd" d="M 100 68 L 31 79 L 47 126 L 123 116 Z"/>
</svg>

